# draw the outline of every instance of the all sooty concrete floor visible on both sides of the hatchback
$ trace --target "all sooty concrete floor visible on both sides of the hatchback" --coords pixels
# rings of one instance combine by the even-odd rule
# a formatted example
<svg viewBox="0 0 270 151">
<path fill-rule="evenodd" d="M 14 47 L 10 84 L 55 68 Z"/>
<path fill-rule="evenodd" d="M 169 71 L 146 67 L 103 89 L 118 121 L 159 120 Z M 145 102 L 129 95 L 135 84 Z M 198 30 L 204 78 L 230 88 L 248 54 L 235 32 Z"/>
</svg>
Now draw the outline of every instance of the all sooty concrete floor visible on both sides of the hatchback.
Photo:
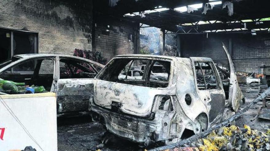
<svg viewBox="0 0 270 151">
<path fill-rule="evenodd" d="M 240 84 L 245 95 L 246 104 L 251 102 L 259 94 L 258 84 Z M 242 107 L 246 106 L 243 105 Z M 254 105 L 249 111 L 236 120 L 236 125 L 243 127 L 243 124 L 251 128 L 266 131 L 270 128 L 270 120 L 253 119 L 261 102 Z M 112 142 L 102 148 L 106 150 L 138 150 L 138 144 L 117 138 L 106 132 L 106 129 L 97 122 L 92 122 L 89 117 L 58 118 L 58 151 L 88 151 L 96 150 L 105 137 L 113 138 Z M 106 138 L 105 138 L 106 139 Z"/>
</svg>

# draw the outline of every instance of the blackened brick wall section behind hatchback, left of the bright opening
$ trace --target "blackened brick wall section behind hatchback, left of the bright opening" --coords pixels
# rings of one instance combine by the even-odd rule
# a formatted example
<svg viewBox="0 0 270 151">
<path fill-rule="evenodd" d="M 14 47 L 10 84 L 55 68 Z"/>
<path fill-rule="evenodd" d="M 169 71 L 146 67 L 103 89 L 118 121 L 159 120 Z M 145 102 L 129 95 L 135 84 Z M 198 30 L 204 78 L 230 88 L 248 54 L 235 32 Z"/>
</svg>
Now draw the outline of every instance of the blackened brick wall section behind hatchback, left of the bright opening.
<svg viewBox="0 0 270 151">
<path fill-rule="evenodd" d="M 139 23 L 95 15 L 93 28 L 93 50 L 104 58 L 138 53 Z"/>
</svg>

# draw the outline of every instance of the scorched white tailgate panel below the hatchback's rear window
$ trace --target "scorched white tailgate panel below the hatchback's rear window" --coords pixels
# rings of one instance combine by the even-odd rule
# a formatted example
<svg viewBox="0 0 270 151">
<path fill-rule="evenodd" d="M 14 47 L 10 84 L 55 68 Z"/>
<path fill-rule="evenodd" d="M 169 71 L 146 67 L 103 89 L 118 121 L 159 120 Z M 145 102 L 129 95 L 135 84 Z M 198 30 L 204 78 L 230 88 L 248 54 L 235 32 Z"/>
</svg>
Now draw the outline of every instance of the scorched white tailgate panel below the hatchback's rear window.
<svg viewBox="0 0 270 151">
<path fill-rule="evenodd" d="M 161 89 L 96 80 L 94 102 L 114 112 L 150 117 L 155 95 Z"/>
</svg>

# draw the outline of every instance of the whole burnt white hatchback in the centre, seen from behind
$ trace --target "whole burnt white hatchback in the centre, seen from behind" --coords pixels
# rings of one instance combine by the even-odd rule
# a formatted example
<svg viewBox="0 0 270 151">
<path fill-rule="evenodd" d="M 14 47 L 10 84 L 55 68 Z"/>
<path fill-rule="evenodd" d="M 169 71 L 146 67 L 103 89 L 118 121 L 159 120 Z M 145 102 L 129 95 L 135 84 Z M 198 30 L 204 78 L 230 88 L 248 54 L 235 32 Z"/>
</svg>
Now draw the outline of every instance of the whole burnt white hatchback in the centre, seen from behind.
<svg viewBox="0 0 270 151">
<path fill-rule="evenodd" d="M 210 58 L 155 55 L 115 56 L 95 77 L 90 111 L 108 131 L 134 142 L 166 144 L 205 131 L 244 102 L 230 55 L 230 78 L 222 83 Z M 150 78 L 152 67 L 167 78 Z M 145 66 L 141 78 L 118 78 L 122 70 Z"/>
</svg>

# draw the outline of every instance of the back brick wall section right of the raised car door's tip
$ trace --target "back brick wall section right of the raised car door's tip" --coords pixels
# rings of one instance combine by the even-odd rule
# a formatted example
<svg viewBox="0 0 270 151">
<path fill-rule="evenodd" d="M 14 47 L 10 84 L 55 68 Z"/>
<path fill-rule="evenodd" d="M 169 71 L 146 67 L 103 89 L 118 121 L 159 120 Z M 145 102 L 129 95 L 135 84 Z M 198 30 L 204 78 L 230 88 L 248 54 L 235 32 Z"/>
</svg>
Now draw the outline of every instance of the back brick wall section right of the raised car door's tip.
<svg viewBox="0 0 270 151">
<path fill-rule="evenodd" d="M 258 73 L 260 66 L 270 66 L 270 34 L 245 34 L 233 39 L 233 61 L 237 71 Z"/>
</svg>

